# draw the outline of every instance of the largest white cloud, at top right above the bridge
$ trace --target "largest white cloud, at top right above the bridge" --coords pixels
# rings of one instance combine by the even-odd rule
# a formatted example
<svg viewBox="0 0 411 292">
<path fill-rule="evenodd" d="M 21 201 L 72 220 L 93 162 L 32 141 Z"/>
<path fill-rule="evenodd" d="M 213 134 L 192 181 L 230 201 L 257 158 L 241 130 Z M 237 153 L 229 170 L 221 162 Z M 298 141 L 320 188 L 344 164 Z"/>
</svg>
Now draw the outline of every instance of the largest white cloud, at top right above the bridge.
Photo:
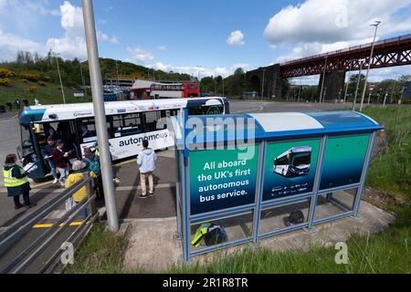
<svg viewBox="0 0 411 292">
<path fill-rule="evenodd" d="M 398 14 L 411 0 L 307 0 L 288 5 L 272 16 L 264 37 L 272 48 L 291 50 L 276 62 L 352 47 L 372 41 L 374 20 L 381 20 L 378 36 L 404 34 L 411 16 Z M 380 37 L 381 38 L 381 37 Z"/>
</svg>

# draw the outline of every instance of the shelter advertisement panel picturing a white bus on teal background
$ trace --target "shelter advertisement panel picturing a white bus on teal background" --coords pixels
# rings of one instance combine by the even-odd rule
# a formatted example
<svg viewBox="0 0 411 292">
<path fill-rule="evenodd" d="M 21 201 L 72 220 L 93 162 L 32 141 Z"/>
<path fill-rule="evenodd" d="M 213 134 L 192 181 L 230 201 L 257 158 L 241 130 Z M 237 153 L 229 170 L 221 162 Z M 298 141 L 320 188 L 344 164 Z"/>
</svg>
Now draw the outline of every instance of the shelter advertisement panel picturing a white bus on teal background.
<svg viewBox="0 0 411 292">
<path fill-rule="evenodd" d="M 321 140 L 270 143 L 264 168 L 263 202 L 311 193 Z"/>
</svg>

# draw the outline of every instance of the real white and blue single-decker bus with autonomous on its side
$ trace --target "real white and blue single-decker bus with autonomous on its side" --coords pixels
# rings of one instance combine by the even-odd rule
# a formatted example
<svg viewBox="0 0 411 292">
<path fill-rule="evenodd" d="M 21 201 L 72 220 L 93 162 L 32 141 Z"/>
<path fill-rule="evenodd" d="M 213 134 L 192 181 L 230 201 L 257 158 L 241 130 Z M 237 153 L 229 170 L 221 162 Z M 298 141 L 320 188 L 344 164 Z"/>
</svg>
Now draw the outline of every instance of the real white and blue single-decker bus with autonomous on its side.
<svg viewBox="0 0 411 292">
<path fill-rule="evenodd" d="M 150 99 L 106 102 L 107 130 L 113 161 L 135 157 L 142 150 L 142 141 L 161 150 L 174 146 L 169 131 L 158 129 L 161 118 L 179 115 L 187 109 L 189 115 L 229 113 L 226 98 Z M 80 159 L 85 147 L 97 142 L 92 103 L 33 106 L 20 115 L 21 146 L 17 153 L 24 166 L 35 165 L 30 172 L 34 180 L 41 180 L 50 172 L 42 155 L 47 138 L 64 141 L 71 160 Z"/>
</svg>

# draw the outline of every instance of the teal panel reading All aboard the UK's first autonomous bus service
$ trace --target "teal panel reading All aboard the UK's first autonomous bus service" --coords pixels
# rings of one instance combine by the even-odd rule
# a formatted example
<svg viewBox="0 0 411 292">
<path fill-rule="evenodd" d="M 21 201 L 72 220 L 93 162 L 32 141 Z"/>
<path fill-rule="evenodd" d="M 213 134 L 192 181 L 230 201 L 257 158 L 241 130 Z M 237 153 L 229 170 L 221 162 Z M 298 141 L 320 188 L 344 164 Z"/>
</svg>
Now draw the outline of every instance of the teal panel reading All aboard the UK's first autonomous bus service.
<svg viewBox="0 0 411 292">
<path fill-rule="evenodd" d="M 255 203 L 258 146 L 244 150 L 210 150 L 190 153 L 191 214 L 204 214 Z"/>
</svg>

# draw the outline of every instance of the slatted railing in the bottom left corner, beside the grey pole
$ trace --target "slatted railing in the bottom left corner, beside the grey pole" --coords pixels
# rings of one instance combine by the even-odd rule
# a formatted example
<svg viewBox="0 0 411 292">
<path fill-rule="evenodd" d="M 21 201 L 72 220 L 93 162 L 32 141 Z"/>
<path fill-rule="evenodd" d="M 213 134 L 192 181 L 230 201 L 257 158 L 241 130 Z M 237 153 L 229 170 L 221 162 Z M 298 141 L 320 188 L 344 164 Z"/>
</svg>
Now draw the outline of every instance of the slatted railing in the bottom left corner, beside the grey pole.
<svg viewBox="0 0 411 292">
<path fill-rule="evenodd" d="M 62 243 L 70 243 L 73 246 L 79 246 L 81 240 L 90 232 L 93 223 L 98 219 L 98 213 L 95 208 L 96 194 L 93 191 L 93 179 L 87 175 L 81 182 L 76 183 L 68 190 L 63 191 L 58 196 L 52 198 L 47 203 L 41 205 L 30 214 L 26 214 L 18 219 L 14 224 L 6 227 L 5 231 L 0 234 L 0 257 L 10 252 L 10 248 L 18 243 L 21 239 L 32 230 L 33 226 L 38 222 L 47 218 L 47 215 L 57 210 L 58 206 L 65 203 L 66 200 L 77 193 L 80 189 L 86 187 L 88 198 L 87 200 L 77 203 L 73 208 L 68 210 L 58 222 L 53 224 L 46 232 L 37 236 L 28 246 L 24 247 L 21 252 L 13 257 L 5 266 L 0 266 L 0 273 L 18 274 L 24 272 L 36 259 L 42 255 L 46 249 L 55 243 L 57 239 Z M 88 218 L 76 228 L 76 230 L 68 235 L 68 238 L 60 237 L 64 231 L 68 229 L 79 214 L 90 206 L 91 212 Z M 60 257 L 63 253 L 59 249 L 53 255 L 49 256 L 46 261 L 38 268 L 38 273 L 53 273 L 58 267 L 63 266 Z"/>
</svg>

